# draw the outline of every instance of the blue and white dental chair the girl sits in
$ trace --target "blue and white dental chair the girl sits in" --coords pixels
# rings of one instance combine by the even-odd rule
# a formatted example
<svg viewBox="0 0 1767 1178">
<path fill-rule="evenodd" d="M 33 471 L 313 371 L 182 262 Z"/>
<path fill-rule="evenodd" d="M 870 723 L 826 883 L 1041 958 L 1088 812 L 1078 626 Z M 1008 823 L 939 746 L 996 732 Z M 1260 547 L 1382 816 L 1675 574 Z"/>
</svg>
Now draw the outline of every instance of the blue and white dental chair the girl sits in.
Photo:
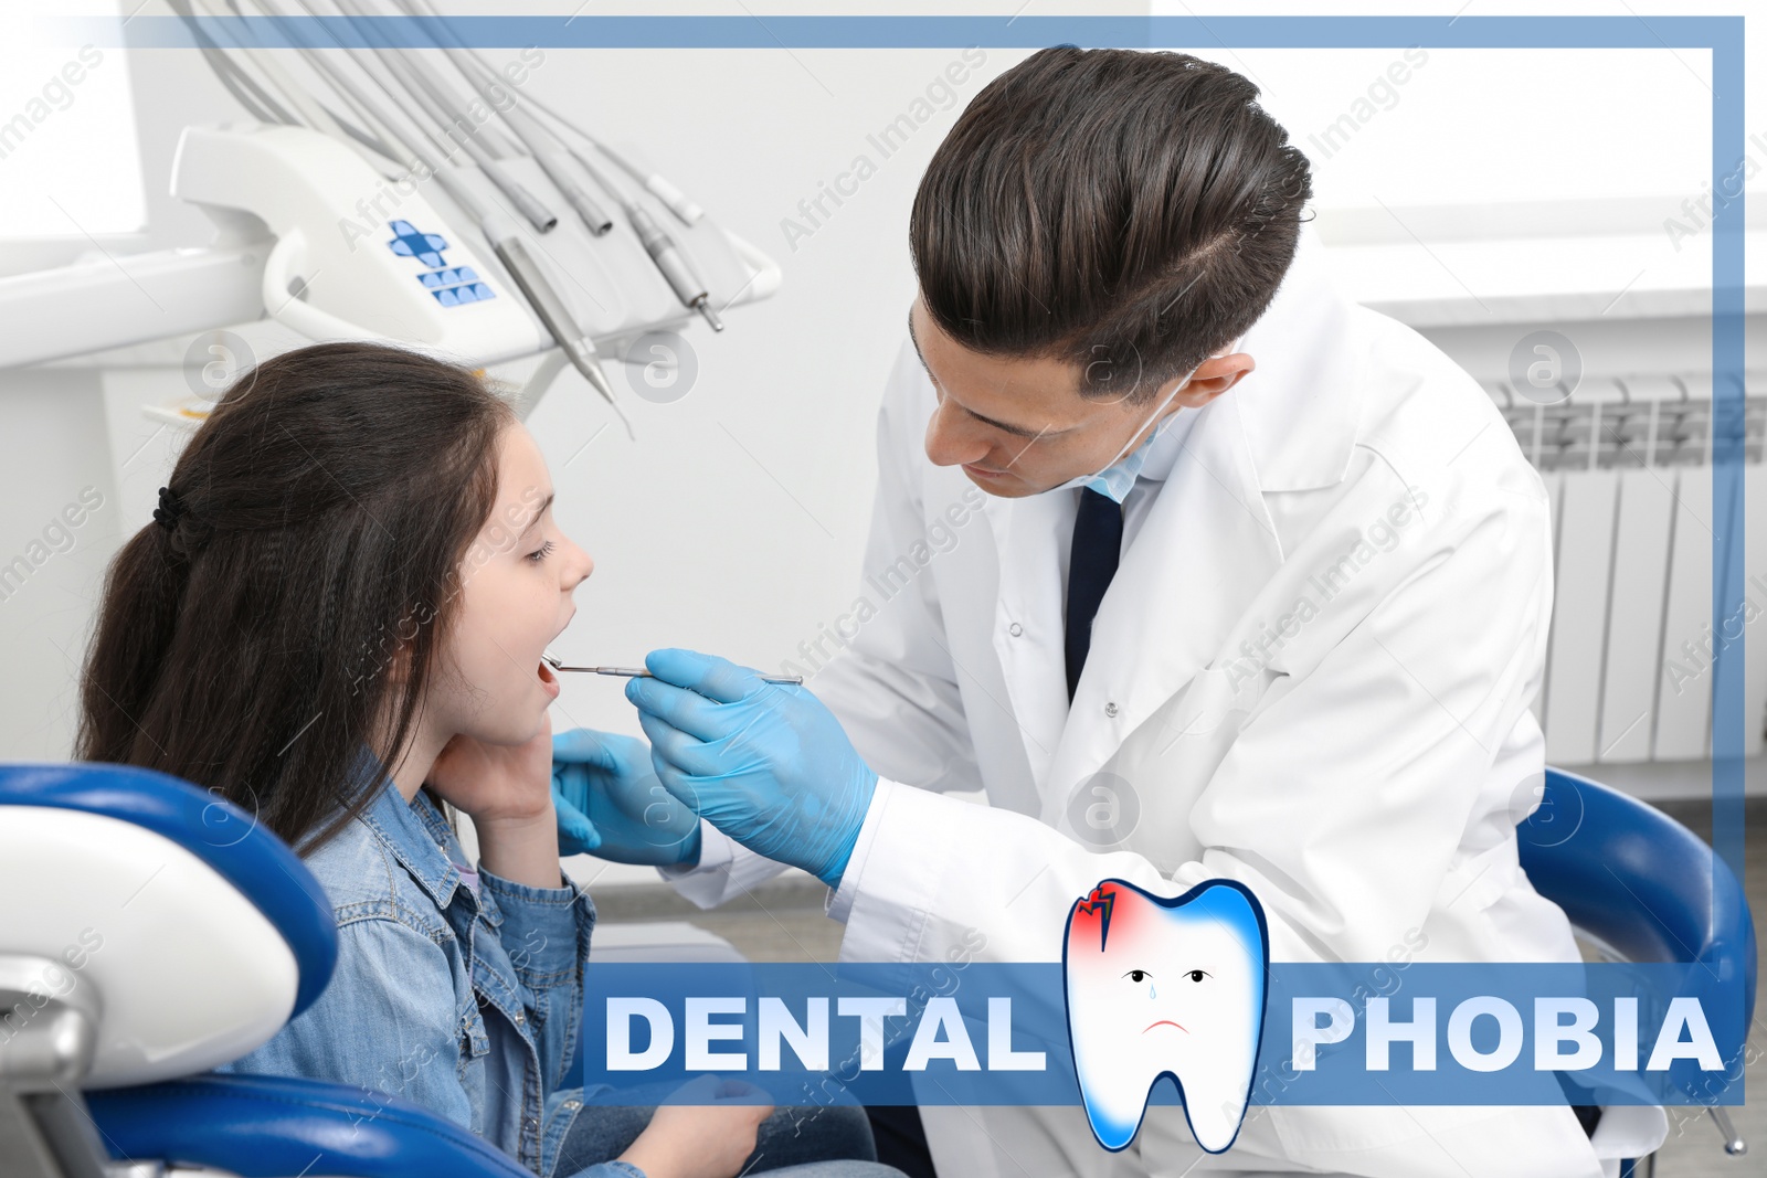
<svg viewBox="0 0 1767 1178">
<path fill-rule="evenodd" d="M 0 895 L 7 1178 L 532 1178 L 392 1097 L 194 1076 L 306 1010 L 337 963 L 318 881 L 219 797 L 118 765 L 0 766 Z"/>
</svg>

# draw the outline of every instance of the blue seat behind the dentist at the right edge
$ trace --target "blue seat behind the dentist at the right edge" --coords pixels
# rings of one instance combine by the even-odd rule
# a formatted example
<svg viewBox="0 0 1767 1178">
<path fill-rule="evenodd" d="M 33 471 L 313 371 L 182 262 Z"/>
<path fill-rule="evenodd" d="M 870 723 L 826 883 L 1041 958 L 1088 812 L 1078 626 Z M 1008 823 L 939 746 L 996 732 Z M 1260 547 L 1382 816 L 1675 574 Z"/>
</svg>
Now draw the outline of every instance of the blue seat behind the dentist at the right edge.
<svg viewBox="0 0 1767 1178">
<path fill-rule="evenodd" d="M 1755 918 L 1712 848 L 1663 811 L 1555 768 L 1516 834 L 1534 890 L 1604 957 L 1703 966 L 1687 975 L 1693 993 L 1712 1014 L 1719 1054 L 1740 1060 L 1755 1019 Z M 1677 1060 L 1670 1079 L 1705 1106 L 1726 1153 L 1748 1152 L 1691 1060 Z"/>
</svg>

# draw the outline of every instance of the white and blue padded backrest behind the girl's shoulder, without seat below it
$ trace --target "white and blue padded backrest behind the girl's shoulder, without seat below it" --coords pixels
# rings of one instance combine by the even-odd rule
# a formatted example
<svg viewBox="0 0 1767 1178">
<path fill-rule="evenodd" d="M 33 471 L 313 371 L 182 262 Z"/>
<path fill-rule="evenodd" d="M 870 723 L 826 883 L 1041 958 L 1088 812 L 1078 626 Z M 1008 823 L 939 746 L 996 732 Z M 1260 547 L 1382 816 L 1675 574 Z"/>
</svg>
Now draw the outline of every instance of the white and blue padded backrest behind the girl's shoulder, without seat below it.
<svg viewBox="0 0 1767 1178">
<path fill-rule="evenodd" d="M 0 765 L 0 954 L 95 994 L 81 1086 L 228 1063 L 325 989 L 330 901 L 251 814 L 127 765 Z M 14 1021 L 21 1017 L 12 1012 Z"/>
</svg>

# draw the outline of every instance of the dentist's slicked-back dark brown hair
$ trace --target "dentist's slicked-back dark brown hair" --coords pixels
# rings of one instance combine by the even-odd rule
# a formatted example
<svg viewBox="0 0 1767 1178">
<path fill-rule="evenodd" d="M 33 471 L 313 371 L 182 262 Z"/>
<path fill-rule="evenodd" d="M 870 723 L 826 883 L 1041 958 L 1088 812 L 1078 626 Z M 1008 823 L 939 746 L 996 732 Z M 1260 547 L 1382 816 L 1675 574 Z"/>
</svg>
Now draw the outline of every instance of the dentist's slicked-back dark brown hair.
<svg viewBox="0 0 1767 1178">
<path fill-rule="evenodd" d="M 1055 46 L 990 81 L 908 223 L 921 298 L 995 357 L 1131 403 L 1269 307 L 1313 194 L 1258 87 L 1186 53 Z"/>
</svg>

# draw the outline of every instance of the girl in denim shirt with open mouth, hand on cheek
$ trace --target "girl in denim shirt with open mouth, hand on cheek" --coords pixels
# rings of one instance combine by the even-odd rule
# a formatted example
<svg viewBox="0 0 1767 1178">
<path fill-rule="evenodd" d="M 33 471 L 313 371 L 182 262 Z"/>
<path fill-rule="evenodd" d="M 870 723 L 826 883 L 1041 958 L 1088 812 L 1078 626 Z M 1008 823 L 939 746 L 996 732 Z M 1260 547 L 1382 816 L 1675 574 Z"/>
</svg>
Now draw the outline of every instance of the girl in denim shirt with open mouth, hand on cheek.
<svg viewBox="0 0 1767 1178">
<path fill-rule="evenodd" d="M 560 1088 L 595 910 L 558 871 L 541 653 L 594 565 L 551 507 L 539 447 L 472 373 L 320 344 L 228 390 L 113 562 L 80 758 L 224 795 L 337 918 L 320 1000 L 223 1070 L 412 1100 L 541 1178 L 875 1159 L 859 1109 L 769 1116 L 701 1079 L 701 1104 L 634 1123 Z M 477 865 L 444 802 L 472 818 Z"/>
</svg>

